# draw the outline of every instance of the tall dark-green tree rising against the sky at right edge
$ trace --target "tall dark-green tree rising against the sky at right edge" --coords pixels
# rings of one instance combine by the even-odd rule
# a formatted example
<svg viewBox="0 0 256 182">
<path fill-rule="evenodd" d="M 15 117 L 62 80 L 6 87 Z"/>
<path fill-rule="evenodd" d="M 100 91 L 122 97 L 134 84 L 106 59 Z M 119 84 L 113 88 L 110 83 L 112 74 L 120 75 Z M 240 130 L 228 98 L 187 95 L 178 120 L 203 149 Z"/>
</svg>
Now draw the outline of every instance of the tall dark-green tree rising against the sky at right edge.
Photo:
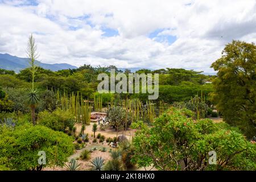
<svg viewBox="0 0 256 182">
<path fill-rule="evenodd" d="M 256 46 L 234 40 L 212 68 L 218 71 L 212 94 L 217 109 L 250 139 L 256 133 Z"/>
</svg>

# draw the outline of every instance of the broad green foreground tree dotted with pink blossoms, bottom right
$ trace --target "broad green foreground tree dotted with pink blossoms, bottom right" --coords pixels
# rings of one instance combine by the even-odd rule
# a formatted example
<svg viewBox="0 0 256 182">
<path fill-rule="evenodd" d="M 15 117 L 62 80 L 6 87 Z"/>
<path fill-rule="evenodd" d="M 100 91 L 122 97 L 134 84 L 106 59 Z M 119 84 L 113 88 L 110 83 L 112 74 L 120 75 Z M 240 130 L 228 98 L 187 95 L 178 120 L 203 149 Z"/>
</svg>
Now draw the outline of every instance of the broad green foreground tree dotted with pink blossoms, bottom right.
<svg viewBox="0 0 256 182">
<path fill-rule="evenodd" d="M 194 120 L 193 112 L 171 107 L 152 127 L 133 123 L 132 162 L 159 170 L 255 170 L 256 145 L 226 123 Z M 208 152 L 217 153 L 216 165 Z"/>
</svg>

